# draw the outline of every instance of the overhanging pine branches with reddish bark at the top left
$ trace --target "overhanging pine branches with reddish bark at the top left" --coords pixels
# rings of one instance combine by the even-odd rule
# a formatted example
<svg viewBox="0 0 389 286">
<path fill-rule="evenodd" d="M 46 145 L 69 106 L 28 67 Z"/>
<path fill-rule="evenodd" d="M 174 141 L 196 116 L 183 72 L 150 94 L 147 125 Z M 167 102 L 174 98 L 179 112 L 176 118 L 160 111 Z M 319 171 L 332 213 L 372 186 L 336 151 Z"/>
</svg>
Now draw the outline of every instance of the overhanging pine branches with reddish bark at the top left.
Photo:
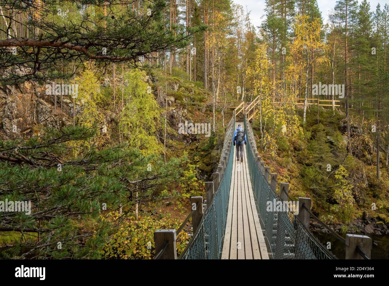
<svg viewBox="0 0 389 286">
<path fill-rule="evenodd" d="M 111 1 L 95 1 L 84 9 L 76 2 L 63 0 L 5 0 L 2 21 L 22 24 L 13 15 L 27 11 L 33 15 L 28 22 L 33 33 L 22 37 L 12 29 L 6 39 L 0 40 L 0 80 L 12 84 L 72 77 L 77 68 L 71 74 L 62 74 L 57 70 L 61 63 L 82 67 L 84 62 L 94 61 L 102 69 L 112 62 L 126 62 L 132 67 L 150 65 L 157 52 L 182 49 L 193 33 L 204 29 L 203 25 L 186 29 L 176 22 L 164 26 L 166 7 L 164 0 L 142 1 L 135 9 Z M 17 48 L 16 54 L 10 53 L 12 47 Z"/>
</svg>

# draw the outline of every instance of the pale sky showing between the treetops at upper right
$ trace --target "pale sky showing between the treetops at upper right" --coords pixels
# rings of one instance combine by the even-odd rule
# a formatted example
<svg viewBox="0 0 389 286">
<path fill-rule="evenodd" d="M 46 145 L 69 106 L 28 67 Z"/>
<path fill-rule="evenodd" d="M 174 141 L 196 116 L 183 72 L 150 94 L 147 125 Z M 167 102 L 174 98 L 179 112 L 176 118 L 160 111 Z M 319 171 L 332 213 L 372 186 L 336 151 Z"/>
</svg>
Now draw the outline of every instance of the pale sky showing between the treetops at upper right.
<svg viewBox="0 0 389 286">
<path fill-rule="evenodd" d="M 250 12 L 251 23 L 254 26 L 261 25 L 261 22 L 264 18 L 261 18 L 264 15 L 263 9 L 265 8 L 265 0 L 233 0 L 236 4 L 242 5 L 244 11 L 247 10 Z M 362 0 L 358 0 L 358 3 L 361 3 Z M 375 11 L 375 7 L 379 3 L 381 5 L 381 9 L 387 3 L 389 4 L 389 0 L 370 0 L 371 11 Z M 328 14 L 331 9 L 335 6 L 336 0 L 317 0 L 319 4 L 319 9 L 321 11 L 322 17 L 324 19 L 324 23 L 326 23 L 328 19 Z"/>
</svg>

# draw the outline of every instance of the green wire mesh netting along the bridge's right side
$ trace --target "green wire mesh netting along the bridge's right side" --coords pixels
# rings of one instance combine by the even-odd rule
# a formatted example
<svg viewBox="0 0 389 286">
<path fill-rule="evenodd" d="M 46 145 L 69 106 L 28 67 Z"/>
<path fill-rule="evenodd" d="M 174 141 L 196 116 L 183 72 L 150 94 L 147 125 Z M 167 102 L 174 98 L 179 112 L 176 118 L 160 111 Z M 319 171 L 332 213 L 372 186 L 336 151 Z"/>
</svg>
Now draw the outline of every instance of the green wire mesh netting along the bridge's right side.
<svg viewBox="0 0 389 286">
<path fill-rule="evenodd" d="M 251 126 L 244 121 L 245 130 Z M 255 149 L 255 148 L 254 148 Z M 291 211 L 266 210 L 267 202 L 282 202 L 260 172 L 248 138 L 246 151 L 252 190 L 270 259 L 336 259 Z"/>
</svg>

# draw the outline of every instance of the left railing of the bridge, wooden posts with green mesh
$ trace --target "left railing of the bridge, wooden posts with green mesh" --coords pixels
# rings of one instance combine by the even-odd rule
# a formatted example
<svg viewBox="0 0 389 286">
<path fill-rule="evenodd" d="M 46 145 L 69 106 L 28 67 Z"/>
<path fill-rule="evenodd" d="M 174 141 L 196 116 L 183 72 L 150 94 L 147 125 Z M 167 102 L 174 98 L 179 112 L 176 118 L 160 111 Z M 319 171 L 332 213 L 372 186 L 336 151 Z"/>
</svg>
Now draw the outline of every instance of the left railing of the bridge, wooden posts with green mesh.
<svg viewBox="0 0 389 286">
<path fill-rule="evenodd" d="M 179 259 L 220 259 L 226 229 L 228 198 L 233 165 L 232 135 L 235 116 L 227 125 L 217 170 L 213 181 L 206 182 L 206 205 L 202 197 L 191 197 L 192 211 L 178 230 L 154 232 L 155 259 L 177 259 L 176 239 L 192 218 L 193 236 Z"/>
</svg>

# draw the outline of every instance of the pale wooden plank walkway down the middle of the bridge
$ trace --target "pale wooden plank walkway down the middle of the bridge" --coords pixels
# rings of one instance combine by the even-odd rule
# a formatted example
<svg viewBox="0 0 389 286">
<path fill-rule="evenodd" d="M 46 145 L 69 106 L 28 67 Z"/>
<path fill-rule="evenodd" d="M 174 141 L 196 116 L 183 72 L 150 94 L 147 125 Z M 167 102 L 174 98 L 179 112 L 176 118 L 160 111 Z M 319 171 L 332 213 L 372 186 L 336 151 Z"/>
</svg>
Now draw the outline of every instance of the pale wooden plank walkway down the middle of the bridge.
<svg viewBox="0 0 389 286">
<path fill-rule="evenodd" d="M 243 123 L 236 123 L 235 130 L 238 124 L 243 126 Z M 234 147 L 222 259 L 269 259 L 246 159 L 246 147 L 243 162 L 237 161 L 236 147 Z"/>
</svg>

